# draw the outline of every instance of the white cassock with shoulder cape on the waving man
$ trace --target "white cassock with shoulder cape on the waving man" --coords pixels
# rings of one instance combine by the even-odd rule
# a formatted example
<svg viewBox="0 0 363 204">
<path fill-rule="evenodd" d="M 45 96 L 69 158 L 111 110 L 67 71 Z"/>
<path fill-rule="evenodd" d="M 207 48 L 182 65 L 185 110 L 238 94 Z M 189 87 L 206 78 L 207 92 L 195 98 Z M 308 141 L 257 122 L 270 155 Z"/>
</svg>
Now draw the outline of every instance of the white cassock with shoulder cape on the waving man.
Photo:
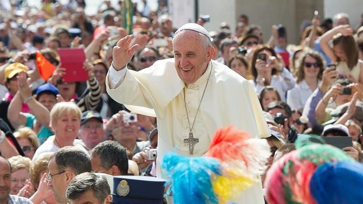
<svg viewBox="0 0 363 204">
<path fill-rule="evenodd" d="M 111 66 L 107 73 L 107 93 L 115 101 L 128 104 L 126 107 L 129 110 L 144 115 L 150 115 L 150 109 L 155 110 L 159 135 L 158 177 L 163 175 L 160 164 L 166 152 L 189 156 L 189 145 L 183 143 L 189 136 L 183 89 L 192 126 L 211 69 L 212 74 L 192 130 L 194 137 L 199 139 L 194 145 L 193 156 L 205 154 L 215 131 L 230 124 L 248 132 L 253 138 L 270 136 L 253 87 L 242 76 L 214 60 L 209 63 L 207 71 L 187 87 L 176 72 L 174 58 L 158 60 L 139 72 L 127 69 L 116 72 Z M 264 203 L 261 182 L 241 194 L 242 200 L 238 199 L 238 203 Z"/>
</svg>

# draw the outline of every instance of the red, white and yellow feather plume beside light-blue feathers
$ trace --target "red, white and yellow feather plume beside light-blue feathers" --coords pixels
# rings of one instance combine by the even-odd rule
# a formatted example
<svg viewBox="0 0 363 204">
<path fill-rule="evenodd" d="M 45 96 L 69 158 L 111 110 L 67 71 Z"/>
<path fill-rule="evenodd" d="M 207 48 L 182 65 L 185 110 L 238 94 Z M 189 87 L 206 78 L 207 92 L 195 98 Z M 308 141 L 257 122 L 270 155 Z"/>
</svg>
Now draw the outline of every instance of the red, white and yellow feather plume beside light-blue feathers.
<svg viewBox="0 0 363 204">
<path fill-rule="evenodd" d="M 270 146 L 264 139 L 250 139 L 246 132 L 232 126 L 217 130 L 205 156 L 221 162 L 223 175 L 213 181 L 220 203 L 233 200 L 233 196 L 255 184 L 270 155 Z"/>
</svg>

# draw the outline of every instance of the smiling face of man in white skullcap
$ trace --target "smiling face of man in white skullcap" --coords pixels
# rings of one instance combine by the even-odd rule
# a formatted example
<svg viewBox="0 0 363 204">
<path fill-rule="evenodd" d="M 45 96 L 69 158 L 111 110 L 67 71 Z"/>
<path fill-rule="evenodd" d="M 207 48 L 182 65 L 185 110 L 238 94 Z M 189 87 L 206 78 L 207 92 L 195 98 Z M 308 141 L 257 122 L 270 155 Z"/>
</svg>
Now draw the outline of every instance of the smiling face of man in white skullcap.
<svg viewBox="0 0 363 204">
<path fill-rule="evenodd" d="M 174 38 L 175 68 L 181 80 L 192 84 L 207 70 L 214 47 L 206 48 L 193 30 L 180 31 Z"/>
</svg>

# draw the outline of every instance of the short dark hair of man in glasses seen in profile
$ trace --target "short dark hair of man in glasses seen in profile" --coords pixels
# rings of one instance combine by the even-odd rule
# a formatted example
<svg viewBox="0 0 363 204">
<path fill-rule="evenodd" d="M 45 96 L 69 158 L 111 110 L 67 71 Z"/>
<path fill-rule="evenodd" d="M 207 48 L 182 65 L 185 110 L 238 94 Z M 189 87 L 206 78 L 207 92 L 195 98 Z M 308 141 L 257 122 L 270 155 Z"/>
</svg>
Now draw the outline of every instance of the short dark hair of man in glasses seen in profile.
<svg viewBox="0 0 363 204">
<path fill-rule="evenodd" d="M 92 171 L 90 157 L 76 147 L 62 147 L 50 158 L 50 160 L 53 158 L 61 171 L 64 171 L 65 168 L 69 168 L 75 175 Z"/>
</svg>

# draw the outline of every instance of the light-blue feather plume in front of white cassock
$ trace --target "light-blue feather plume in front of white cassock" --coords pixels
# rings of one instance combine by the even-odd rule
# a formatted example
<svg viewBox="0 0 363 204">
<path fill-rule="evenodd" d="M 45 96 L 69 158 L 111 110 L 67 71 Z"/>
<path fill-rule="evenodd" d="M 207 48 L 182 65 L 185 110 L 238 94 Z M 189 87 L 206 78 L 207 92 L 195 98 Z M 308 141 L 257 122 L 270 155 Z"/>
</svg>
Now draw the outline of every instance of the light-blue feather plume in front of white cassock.
<svg viewBox="0 0 363 204">
<path fill-rule="evenodd" d="M 212 178 L 221 175 L 221 165 L 210 157 L 184 157 L 166 153 L 162 167 L 166 170 L 167 194 L 173 195 L 175 204 L 217 204 Z"/>
</svg>

